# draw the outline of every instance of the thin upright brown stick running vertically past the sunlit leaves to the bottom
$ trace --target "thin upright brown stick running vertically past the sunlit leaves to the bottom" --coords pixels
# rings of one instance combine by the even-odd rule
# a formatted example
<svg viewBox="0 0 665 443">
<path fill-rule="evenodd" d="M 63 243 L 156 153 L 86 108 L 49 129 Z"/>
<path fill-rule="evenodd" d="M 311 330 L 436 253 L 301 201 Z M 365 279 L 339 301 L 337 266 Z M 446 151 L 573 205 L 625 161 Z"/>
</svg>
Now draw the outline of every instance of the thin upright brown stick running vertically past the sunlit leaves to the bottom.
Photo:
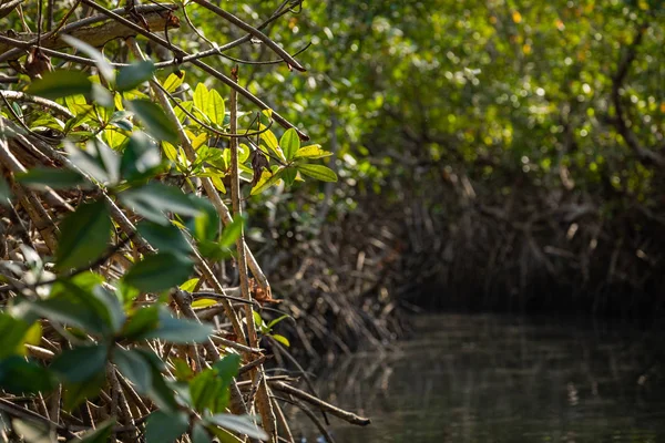
<svg viewBox="0 0 665 443">
<path fill-rule="evenodd" d="M 232 76 L 235 82 L 237 78 L 237 66 L 233 70 Z M 235 90 L 231 90 L 231 99 L 228 101 L 231 109 L 231 127 L 232 134 L 238 132 L 238 106 L 237 106 L 237 94 Z M 238 168 L 238 140 L 231 138 L 231 199 L 233 204 L 233 213 L 235 217 L 243 216 L 243 208 L 241 206 L 241 178 Z M 238 275 L 241 277 L 241 291 L 243 298 L 248 301 L 249 305 L 245 306 L 245 321 L 247 322 L 247 334 L 249 339 L 249 346 L 253 348 L 258 347 L 258 338 L 256 336 L 256 324 L 254 323 L 254 311 L 252 309 L 252 293 L 249 292 L 249 276 L 247 274 L 247 257 L 245 255 L 245 229 L 241 227 L 241 235 L 236 239 L 236 250 L 238 253 Z M 258 384 L 258 391 L 256 392 L 256 406 L 260 414 L 262 424 L 273 442 L 277 442 L 277 418 L 273 405 L 270 403 L 270 396 L 268 391 L 268 384 L 266 383 L 265 372 L 263 365 L 258 365 L 252 373 L 252 380 Z"/>
</svg>

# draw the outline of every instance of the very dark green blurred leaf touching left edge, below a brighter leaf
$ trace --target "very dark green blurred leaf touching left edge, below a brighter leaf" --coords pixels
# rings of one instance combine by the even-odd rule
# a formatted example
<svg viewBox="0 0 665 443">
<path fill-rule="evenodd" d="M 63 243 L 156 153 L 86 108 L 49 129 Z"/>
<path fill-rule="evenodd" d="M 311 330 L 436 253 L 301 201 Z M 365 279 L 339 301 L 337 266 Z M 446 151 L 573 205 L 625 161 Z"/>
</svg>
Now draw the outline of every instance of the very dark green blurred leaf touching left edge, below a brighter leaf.
<svg viewBox="0 0 665 443">
<path fill-rule="evenodd" d="M 57 385 L 53 374 L 39 363 L 19 356 L 0 360 L 0 387 L 7 392 L 17 395 L 45 393 Z"/>
</svg>

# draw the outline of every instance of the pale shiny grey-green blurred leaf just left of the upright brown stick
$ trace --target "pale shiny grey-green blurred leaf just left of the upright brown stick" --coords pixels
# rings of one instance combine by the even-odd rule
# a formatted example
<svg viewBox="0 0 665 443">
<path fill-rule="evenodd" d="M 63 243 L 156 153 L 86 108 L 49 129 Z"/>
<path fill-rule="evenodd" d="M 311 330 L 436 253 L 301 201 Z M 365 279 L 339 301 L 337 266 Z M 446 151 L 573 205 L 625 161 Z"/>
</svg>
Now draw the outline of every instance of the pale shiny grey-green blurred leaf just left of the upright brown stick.
<svg viewBox="0 0 665 443">
<path fill-rule="evenodd" d="M 165 213 L 197 216 L 201 206 L 176 187 L 161 183 L 127 189 L 119 195 L 120 200 L 151 222 L 167 226 Z"/>
</svg>

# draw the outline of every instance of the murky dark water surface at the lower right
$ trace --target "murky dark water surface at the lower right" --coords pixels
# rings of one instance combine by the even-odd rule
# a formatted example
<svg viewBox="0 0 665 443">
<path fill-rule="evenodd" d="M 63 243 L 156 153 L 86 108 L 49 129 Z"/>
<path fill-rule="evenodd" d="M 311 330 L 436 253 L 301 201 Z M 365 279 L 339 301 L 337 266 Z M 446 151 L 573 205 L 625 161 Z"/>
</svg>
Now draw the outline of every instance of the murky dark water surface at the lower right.
<svg viewBox="0 0 665 443">
<path fill-rule="evenodd" d="M 316 381 L 337 443 L 665 442 L 665 340 L 618 324 L 488 316 L 417 319 L 417 339 Z M 300 415 L 300 442 L 323 441 Z"/>
</svg>

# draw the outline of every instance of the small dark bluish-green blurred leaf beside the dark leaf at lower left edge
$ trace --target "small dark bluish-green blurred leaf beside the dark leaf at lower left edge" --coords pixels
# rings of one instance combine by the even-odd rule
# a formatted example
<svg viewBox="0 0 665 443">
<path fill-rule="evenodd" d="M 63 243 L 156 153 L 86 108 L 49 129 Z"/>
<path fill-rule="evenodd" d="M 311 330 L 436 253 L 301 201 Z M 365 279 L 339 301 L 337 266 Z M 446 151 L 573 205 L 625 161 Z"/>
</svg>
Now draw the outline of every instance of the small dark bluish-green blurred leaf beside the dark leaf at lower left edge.
<svg viewBox="0 0 665 443">
<path fill-rule="evenodd" d="M 69 349 L 53 360 L 50 369 L 65 383 L 81 383 L 104 373 L 108 354 L 105 344 Z"/>
</svg>

